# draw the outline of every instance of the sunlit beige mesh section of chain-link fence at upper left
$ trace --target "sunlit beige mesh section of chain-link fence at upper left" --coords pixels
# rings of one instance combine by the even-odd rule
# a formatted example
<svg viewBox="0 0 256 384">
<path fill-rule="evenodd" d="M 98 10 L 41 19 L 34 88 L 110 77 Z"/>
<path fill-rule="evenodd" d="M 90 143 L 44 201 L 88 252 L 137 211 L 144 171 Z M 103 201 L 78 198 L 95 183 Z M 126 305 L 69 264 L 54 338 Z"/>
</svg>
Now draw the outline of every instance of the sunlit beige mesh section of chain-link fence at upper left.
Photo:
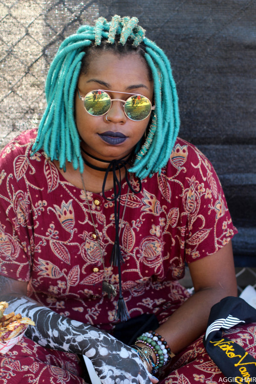
<svg viewBox="0 0 256 384">
<path fill-rule="evenodd" d="M 0 2 L 0 145 L 37 125 L 44 84 L 60 42 L 99 16 L 97 2 Z"/>
</svg>

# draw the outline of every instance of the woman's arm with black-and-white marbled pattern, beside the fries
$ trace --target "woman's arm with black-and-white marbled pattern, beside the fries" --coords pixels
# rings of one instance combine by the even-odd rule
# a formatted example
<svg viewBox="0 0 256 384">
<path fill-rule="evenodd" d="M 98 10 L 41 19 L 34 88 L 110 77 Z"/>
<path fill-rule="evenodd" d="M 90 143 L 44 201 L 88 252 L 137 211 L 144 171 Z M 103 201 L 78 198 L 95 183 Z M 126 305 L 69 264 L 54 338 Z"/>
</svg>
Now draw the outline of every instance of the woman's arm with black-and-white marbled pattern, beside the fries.
<svg viewBox="0 0 256 384">
<path fill-rule="evenodd" d="M 29 326 L 26 332 L 29 338 L 44 347 L 87 355 L 102 383 L 110 378 L 113 383 L 125 379 L 141 384 L 151 382 L 133 349 L 105 331 L 40 306 L 26 296 L 27 283 L 0 276 L 0 292 L 0 301 L 9 303 L 6 313 L 15 311 L 35 322 L 35 327 Z"/>
</svg>

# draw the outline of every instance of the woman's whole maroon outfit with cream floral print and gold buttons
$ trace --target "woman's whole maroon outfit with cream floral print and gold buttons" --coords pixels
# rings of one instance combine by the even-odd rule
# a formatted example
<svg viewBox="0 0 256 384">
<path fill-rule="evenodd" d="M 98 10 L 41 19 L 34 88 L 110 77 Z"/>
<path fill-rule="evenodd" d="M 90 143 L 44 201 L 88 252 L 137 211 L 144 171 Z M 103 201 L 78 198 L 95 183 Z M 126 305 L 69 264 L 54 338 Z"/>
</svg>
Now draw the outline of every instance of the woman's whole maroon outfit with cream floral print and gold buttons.
<svg viewBox="0 0 256 384">
<path fill-rule="evenodd" d="M 26 131 L 0 155 L 0 274 L 29 282 L 29 295 L 53 311 L 111 332 L 118 296 L 109 299 L 101 289 L 108 279 L 118 291 L 118 270 L 110 263 L 114 204 L 102 194 L 86 198 L 42 151 L 31 156 L 35 136 Z M 131 183 L 138 188 L 133 176 Z M 131 317 L 154 313 L 161 323 L 188 297 L 178 283 L 185 263 L 218 251 L 236 228 L 212 165 L 182 139 L 161 174 L 142 180 L 140 193 L 132 193 L 125 180 L 121 188 L 123 296 Z M 105 197 L 113 197 L 113 190 Z M 236 333 L 239 343 L 255 346 L 252 331 Z M 224 377 L 201 339 L 175 361 L 162 382 L 208 384 Z M 25 383 L 26 377 L 38 384 L 84 382 L 75 355 L 46 350 L 27 338 L 1 364 L 3 383 L 8 378 Z"/>
</svg>

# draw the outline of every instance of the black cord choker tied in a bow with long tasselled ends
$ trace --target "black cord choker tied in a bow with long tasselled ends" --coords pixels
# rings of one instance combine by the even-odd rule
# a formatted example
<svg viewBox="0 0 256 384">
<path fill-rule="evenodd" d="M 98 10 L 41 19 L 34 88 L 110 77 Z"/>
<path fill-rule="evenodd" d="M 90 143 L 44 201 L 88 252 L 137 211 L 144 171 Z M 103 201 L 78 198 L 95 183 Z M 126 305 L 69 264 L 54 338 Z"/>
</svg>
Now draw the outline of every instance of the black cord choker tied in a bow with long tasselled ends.
<svg viewBox="0 0 256 384">
<path fill-rule="evenodd" d="M 118 228 L 119 228 L 119 218 L 120 218 L 120 197 L 121 197 L 121 168 L 124 167 L 125 169 L 125 179 L 127 182 L 127 185 L 129 188 L 132 190 L 134 194 L 138 194 L 141 191 L 141 181 L 139 180 L 139 189 L 135 190 L 132 187 L 132 184 L 130 183 L 129 177 L 128 177 L 128 171 L 126 168 L 126 165 L 129 163 L 129 160 L 131 159 L 131 156 L 127 159 L 124 160 L 125 157 L 122 157 L 121 159 L 114 159 L 111 161 L 106 161 L 99 159 L 95 156 L 90 155 L 88 152 L 84 151 L 83 148 L 81 147 L 81 150 L 87 155 L 93 158 L 94 160 L 101 161 L 103 163 L 108 163 L 108 167 L 106 168 L 101 168 L 97 167 L 93 164 L 91 164 L 89 161 L 83 158 L 83 161 L 86 165 L 89 167 L 100 170 L 102 172 L 105 172 L 103 184 L 102 184 L 102 195 L 104 199 L 108 201 L 114 201 L 114 212 L 115 212 L 115 230 L 116 230 L 116 235 L 115 235 L 115 243 L 112 249 L 112 254 L 111 254 L 111 265 L 117 266 L 118 267 L 118 278 L 119 278 L 119 299 L 118 299 L 118 304 L 117 304 L 117 309 L 116 309 L 116 319 L 120 319 L 121 321 L 126 321 L 127 319 L 130 318 L 129 312 L 127 310 L 127 307 L 125 305 L 125 302 L 123 300 L 122 296 L 122 281 L 121 281 L 121 263 L 124 262 L 121 249 L 120 249 L 120 244 L 119 244 L 119 233 L 118 233 Z M 116 174 L 118 171 L 119 178 Z M 106 184 L 106 179 L 108 178 L 109 173 L 113 173 L 113 189 L 114 189 L 114 197 L 113 199 L 108 199 L 105 197 L 105 184 Z"/>
</svg>

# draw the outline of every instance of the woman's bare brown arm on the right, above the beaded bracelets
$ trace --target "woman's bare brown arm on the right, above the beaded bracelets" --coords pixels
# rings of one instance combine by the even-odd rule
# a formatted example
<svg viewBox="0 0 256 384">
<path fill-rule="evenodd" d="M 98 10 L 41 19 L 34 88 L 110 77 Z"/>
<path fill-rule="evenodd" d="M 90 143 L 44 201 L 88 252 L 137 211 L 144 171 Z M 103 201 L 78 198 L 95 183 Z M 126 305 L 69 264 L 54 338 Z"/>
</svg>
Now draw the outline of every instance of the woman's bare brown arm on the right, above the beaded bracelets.
<svg viewBox="0 0 256 384">
<path fill-rule="evenodd" d="M 178 353 L 207 327 L 210 308 L 225 296 L 237 296 L 231 241 L 216 253 L 189 264 L 195 294 L 156 332 Z"/>
</svg>

